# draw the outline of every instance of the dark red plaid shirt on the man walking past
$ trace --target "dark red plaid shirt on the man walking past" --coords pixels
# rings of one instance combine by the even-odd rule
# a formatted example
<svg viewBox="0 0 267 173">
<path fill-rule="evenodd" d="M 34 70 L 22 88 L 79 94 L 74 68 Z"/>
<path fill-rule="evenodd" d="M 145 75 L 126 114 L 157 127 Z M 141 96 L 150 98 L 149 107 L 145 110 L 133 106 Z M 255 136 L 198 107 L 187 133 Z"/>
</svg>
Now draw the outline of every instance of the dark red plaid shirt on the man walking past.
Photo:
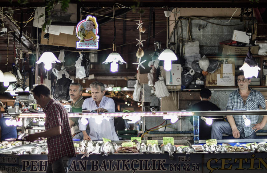
<svg viewBox="0 0 267 173">
<path fill-rule="evenodd" d="M 59 102 L 51 99 L 45 106 L 44 113 L 45 130 L 61 126 L 60 135 L 47 138 L 48 163 L 54 163 L 64 156 L 76 157 L 67 110 Z"/>
</svg>

